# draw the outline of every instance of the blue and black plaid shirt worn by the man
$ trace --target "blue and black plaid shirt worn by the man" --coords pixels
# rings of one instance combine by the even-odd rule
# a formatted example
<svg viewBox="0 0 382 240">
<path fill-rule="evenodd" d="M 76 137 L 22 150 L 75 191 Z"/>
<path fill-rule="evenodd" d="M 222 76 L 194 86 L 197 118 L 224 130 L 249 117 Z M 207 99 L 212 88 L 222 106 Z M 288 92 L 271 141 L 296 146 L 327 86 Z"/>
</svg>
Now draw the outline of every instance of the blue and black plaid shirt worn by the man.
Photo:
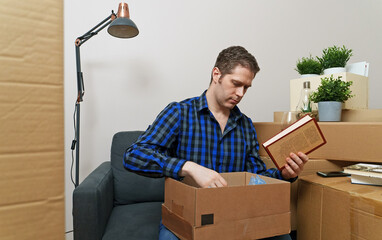
<svg viewBox="0 0 382 240">
<path fill-rule="evenodd" d="M 222 133 L 208 109 L 206 92 L 200 97 L 170 103 L 124 155 L 128 170 L 180 179 L 186 161 L 221 172 L 248 171 L 282 179 L 266 169 L 250 118 L 238 107 L 231 110 Z"/>
</svg>

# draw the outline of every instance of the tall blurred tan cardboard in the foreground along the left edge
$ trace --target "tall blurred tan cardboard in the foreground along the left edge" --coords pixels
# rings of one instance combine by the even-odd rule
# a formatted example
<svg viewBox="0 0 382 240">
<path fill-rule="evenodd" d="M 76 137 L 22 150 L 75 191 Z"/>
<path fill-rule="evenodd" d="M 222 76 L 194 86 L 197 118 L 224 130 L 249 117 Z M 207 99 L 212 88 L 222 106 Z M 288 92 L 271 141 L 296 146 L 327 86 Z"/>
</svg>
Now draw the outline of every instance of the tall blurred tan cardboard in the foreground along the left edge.
<svg viewBox="0 0 382 240">
<path fill-rule="evenodd" d="M 63 1 L 5 0 L 0 22 L 0 239 L 63 239 Z"/>
</svg>

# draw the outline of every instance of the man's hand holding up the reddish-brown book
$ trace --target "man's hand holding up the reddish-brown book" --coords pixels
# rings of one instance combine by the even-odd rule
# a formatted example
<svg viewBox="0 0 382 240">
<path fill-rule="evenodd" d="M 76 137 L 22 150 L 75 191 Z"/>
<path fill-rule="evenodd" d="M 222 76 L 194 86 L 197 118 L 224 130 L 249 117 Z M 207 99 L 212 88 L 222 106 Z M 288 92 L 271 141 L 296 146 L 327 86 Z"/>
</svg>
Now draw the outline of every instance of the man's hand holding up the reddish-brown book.
<svg viewBox="0 0 382 240">
<path fill-rule="evenodd" d="M 286 159 L 285 167 L 281 171 L 281 175 L 284 179 L 288 180 L 297 177 L 304 169 L 304 165 L 308 162 L 309 158 L 302 152 L 298 152 L 297 155 L 290 153 Z"/>
</svg>

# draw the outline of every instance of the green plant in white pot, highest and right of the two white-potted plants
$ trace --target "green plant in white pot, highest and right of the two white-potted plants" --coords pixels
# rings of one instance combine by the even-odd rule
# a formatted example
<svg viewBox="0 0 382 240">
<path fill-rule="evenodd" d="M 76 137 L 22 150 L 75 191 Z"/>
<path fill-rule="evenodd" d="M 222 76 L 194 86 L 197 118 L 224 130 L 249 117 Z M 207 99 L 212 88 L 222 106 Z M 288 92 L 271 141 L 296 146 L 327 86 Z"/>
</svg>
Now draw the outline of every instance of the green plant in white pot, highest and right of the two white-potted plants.
<svg viewBox="0 0 382 240">
<path fill-rule="evenodd" d="M 352 52 L 352 49 L 347 49 L 345 46 L 340 48 L 334 45 L 324 49 L 322 57 L 317 57 L 317 59 L 321 63 L 325 75 L 345 72 L 346 63 L 353 56 Z"/>
</svg>

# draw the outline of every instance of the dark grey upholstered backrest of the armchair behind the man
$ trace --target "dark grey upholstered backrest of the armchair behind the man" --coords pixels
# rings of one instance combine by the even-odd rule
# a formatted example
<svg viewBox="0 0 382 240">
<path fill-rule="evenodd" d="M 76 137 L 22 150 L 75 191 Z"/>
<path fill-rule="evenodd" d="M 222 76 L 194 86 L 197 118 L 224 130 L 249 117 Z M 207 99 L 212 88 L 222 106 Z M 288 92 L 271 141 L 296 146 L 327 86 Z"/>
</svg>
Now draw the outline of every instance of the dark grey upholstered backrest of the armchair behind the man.
<svg viewBox="0 0 382 240">
<path fill-rule="evenodd" d="M 142 131 L 118 132 L 111 145 L 111 166 L 114 176 L 114 205 L 137 202 L 163 202 L 164 178 L 149 178 L 126 170 L 123 154 Z"/>
</svg>

